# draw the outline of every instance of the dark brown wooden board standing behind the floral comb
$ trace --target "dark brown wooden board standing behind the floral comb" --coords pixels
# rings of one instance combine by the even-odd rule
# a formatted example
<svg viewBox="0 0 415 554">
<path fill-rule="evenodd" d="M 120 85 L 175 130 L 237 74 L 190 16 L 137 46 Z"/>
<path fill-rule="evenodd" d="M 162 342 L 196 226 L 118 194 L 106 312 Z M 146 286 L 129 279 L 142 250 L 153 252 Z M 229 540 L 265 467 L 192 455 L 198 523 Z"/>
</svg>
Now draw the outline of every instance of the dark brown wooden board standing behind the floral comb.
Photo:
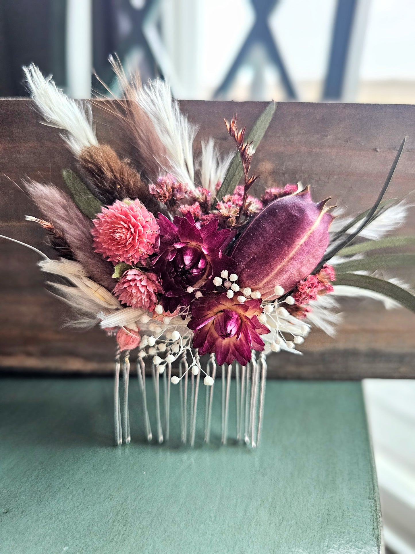
<svg viewBox="0 0 415 554">
<path fill-rule="evenodd" d="M 129 155 L 130 146 L 96 102 L 98 139 Z M 264 102 L 181 102 L 189 119 L 200 125 L 201 138 L 214 136 L 222 150 L 232 148 L 224 117 L 237 112 L 249 130 Z M 61 170 L 74 167 L 56 129 L 39 124 L 32 102 L 0 100 L 0 233 L 50 252 L 42 230 L 24 221 L 36 215 L 28 198 L 12 182 L 23 176 L 64 188 Z M 260 186 L 301 180 L 315 199 L 333 197 L 351 212 L 371 206 L 404 135 L 405 150 L 390 187 L 390 197 L 412 191 L 415 183 L 415 106 L 294 104 L 277 106 L 258 148 L 253 170 Z M 7 176 L 7 177 L 6 177 Z M 399 230 L 415 233 L 411 217 Z M 45 275 L 37 255 L 0 242 L 0 367 L 47 371 L 111 371 L 113 343 L 95 329 L 85 333 L 62 327 L 69 309 L 44 290 Z M 413 283 L 410 273 L 400 273 Z M 333 339 L 313 330 L 302 350 L 306 356 L 269 358 L 270 375 L 278 377 L 361 378 L 415 377 L 415 317 L 406 310 L 385 311 L 375 302 L 345 302 L 345 322 Z"/>
</svg>

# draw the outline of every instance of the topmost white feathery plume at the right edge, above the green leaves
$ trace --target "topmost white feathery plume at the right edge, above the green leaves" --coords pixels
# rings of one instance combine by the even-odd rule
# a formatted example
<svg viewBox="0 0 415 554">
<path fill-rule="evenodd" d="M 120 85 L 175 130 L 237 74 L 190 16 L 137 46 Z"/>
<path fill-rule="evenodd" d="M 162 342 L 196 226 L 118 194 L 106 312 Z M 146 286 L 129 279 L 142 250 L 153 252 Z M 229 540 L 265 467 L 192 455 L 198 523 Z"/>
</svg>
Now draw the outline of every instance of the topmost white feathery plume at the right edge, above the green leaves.
<svg viewBox="0 0 415 554">
<path fill-rule="evenodd" d="M 367 224 L 366 227 L 359 233 L 359 237 L 365 237 L 370 240 L 378 240 L 385 237 L 387 233 L 390 233 L 393 229 L 396 229 L 402 225 L 404 220 L 407 218 L 408 209 L 412 206 L 415 206 L 415 204 L 408 204 L 404 200 L 401 200 L 401 202 L 397 202 L 396 204 L 392 204 L 392 206 L 386 208 L 380 216 Z M 350 223 L 353 219 L 353 217 L 341 217 L 334 219 L 330 225 L 330 232 L 339 232 L 344 225 L 347 225 L 347 223 Z M 361 221 L 357 222 L 355 225 L 350 227 L 346 233 L 354 233 L 360 224 Z"/>
</svg>

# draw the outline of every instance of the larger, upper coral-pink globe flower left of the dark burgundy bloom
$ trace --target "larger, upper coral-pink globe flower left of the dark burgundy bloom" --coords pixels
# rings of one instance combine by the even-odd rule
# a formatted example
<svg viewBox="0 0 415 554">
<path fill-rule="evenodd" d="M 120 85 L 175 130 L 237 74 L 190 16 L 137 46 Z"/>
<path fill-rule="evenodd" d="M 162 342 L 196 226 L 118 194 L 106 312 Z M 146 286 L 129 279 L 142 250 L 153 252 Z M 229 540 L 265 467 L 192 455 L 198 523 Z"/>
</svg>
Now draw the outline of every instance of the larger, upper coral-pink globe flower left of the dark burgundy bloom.
<svg viewBox="0 0 415 554">
<path fill-rule="evenodd" d="M 95 252 L 113 263 L 144 263 L 157 250 L 158 225 L 138 200 L 117 200 L 92 221 Z"/>
</svg>

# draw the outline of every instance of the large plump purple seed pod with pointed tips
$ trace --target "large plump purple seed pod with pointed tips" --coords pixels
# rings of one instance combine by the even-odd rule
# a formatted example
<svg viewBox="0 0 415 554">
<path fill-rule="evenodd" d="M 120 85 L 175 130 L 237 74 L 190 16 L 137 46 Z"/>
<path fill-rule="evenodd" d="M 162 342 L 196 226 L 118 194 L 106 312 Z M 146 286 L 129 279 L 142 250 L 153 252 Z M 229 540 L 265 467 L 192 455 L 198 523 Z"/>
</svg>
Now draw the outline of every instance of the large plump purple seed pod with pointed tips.
<svg viewBox="0 0 415 554">
<path fill-rule="evenodd" d="M 329 244 L 333 216 L 327 200 L 314 204 L 308 188 L 268 204 L 243 230 L 232 248 L 238 285 L 272 298 L 274 286 L 291 290 L 319 263 Z"/>
</svg>

